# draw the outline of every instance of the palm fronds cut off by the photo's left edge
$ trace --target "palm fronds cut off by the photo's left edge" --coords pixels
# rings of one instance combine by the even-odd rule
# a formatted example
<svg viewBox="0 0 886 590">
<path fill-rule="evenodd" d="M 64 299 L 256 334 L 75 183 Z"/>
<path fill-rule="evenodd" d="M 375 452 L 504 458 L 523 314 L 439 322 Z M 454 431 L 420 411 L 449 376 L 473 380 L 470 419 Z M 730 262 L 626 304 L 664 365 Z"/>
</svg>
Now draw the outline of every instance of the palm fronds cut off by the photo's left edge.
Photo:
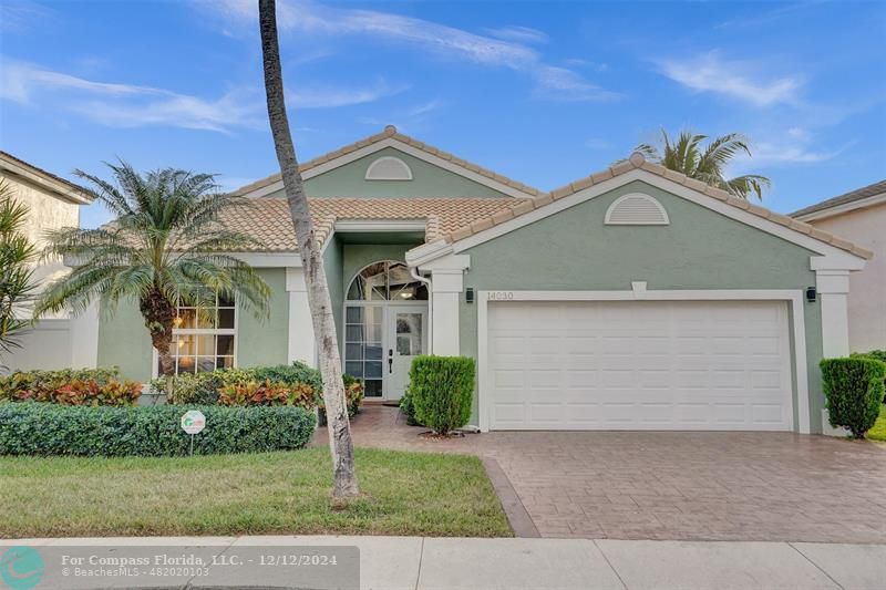
<svg viewBox="0 0 886 590">
<path fill-rule="evenodd" d="M 32 321 L 23 306 L 33 302 L 34 245 L 21 230 L 28 206 L 12 198 L 12 188 L 0 182 L 0 353 L 19 348 L 18 335 Z"/>
</svg>

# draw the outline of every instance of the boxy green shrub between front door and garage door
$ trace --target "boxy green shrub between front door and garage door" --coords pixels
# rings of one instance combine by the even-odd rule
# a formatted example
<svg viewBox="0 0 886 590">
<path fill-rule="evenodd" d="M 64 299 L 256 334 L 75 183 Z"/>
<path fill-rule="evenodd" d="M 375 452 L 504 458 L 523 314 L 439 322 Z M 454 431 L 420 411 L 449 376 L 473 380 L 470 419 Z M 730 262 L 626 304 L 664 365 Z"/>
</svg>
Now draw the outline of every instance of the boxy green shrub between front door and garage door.
<svg viewBox="0 0 886 590">
<path fill-rule="evenodd" d="M 467 356 L 416 356 L 409 370 L 415 420 L 437 434 L 467 424 L 475 373 L 474 360 Z"/>
</svg>

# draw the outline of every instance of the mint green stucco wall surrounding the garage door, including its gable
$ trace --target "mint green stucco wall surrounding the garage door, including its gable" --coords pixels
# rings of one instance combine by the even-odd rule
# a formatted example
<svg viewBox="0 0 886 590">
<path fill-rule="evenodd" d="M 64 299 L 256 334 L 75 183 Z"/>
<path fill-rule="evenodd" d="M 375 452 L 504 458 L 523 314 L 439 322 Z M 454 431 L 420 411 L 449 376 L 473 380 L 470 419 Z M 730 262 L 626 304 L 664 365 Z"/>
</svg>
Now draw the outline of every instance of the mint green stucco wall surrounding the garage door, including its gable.
<svg viewBox="0 0 886 590">
<path fill-rule="evenodd" d="M 627 193 L 655 196 L 669 226 L 605 226 L 611 203 Z M 704 207 L 633 182 L 518 230 L 481 244 L 464 286 L 475 290 L 804 289 L 815 284 L 812 252 Z M 810 413 L 821 432 L 821 309 L 804 303 Z M 460 312 L 462 354 L 476 358 L 477 306 Z M 794 371 L 796 369 L 794 368 Z M 794 392 L 796 396 L 796 391 Z M 472 422 L 476 424 L 474 403 Z M 796 408 L 796 404 L 794 404 Z M 796 410 L 794 416 L 796 424 Z"/>
</svg>

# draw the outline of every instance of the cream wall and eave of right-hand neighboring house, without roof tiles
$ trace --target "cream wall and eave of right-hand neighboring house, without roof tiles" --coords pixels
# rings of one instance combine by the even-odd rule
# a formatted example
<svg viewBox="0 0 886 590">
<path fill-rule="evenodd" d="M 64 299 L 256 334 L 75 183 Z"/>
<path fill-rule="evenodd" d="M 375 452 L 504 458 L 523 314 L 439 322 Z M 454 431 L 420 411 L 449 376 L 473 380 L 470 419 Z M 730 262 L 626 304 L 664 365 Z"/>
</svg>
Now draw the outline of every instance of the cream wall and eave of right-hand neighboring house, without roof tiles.
<svg viewBox="0 0 886 590">
<path fill-rule="evenodd" d="M 886 349 L 886 203 L 808 222 L 874 251 L 848 279 L 849 349 Z"/>
</svg>

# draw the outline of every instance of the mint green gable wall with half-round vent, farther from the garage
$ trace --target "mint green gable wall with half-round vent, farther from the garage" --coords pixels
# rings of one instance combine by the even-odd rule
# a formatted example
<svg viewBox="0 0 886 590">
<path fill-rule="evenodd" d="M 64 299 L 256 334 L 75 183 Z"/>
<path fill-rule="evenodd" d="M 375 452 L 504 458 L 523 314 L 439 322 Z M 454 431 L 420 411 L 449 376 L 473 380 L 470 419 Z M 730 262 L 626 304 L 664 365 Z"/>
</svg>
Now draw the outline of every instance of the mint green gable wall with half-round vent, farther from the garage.
<svg viewBox="0 0 886 590">
<path fill-rule="evenodd" d="M 412 168 L 412 180 L 367 180 L 367 168 L 383 156 L 395 156 Z M 502 193 L 423 159 L 385 147 L 305 182 L 310 197 L 506 197 Z M 280 193 L 281 195 L 281 193 Z M 275 194 L 274 196 L 278 196 Z"/>
</svg>

